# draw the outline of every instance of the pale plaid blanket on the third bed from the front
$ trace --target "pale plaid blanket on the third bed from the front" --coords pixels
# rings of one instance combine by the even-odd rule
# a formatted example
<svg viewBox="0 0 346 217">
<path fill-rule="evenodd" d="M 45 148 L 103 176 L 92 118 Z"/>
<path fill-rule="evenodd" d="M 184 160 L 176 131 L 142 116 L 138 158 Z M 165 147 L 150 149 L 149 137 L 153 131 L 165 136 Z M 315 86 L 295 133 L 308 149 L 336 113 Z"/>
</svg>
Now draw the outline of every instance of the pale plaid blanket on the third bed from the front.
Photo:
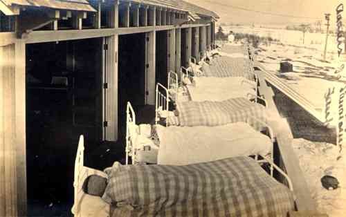
<svg viewBox="0 0 346 217">
<path fill-rule="evenodd" d="M 266 108 L 243 97 L 220 102 L 176 102 L 180 126 L 219 126 L 255 117 L 266 122 Z M 176 123 L 168 122 L 168 124 Z"/>
</svg>

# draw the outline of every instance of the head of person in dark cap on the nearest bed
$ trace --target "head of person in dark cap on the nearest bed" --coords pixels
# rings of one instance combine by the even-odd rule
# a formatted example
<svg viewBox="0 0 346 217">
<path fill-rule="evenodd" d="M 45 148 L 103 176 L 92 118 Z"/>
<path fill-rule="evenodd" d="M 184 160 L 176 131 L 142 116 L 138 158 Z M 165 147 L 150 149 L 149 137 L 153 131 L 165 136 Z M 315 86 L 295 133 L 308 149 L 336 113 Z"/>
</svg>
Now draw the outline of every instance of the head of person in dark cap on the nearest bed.
<svg viewBox="0 0 346 217">
<path fill-rule="evenodd" d="M 84 180 L 82 189 L 86 194 L 102 197 L 106 187 L 107 178 L 98 175 L 91 175 Z"/>
</svg>

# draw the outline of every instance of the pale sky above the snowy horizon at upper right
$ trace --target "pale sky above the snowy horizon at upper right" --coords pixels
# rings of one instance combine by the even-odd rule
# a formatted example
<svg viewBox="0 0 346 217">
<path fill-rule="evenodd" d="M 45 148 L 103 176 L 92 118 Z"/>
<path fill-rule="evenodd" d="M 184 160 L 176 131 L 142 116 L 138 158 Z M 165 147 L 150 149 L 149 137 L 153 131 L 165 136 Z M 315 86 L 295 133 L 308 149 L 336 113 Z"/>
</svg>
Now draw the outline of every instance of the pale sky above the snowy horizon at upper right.
<svg viewBox="0 0 346 217">
<path fill-rule="evenodd" d="M 345 11 L 342 13 L 346 21 L 345 0 L 185 0 L 197 4 L 208 10 L 217 12 L 220 22 L 233 23 L 313 23 L 322 20 L 325 23 L 325 13 L 331 14 L 331 22 L 336 22 L 336 7 L 344 3 Z M 311 17 L 302 19 L 294 17 L 280 17 L 265 15 L 260 12 L 248 12 L 232 8 L 241 7 L 280 15 L 294 17 Z"/>
</svg>

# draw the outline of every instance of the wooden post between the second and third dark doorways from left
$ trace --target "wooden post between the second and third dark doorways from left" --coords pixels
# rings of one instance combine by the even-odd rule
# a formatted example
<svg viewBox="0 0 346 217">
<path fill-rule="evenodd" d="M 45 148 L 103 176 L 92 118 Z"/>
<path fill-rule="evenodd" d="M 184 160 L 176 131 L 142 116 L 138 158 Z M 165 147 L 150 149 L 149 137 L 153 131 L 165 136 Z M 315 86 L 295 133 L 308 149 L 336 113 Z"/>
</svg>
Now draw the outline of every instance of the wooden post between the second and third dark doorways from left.
<svg viewBox="0 0 346 217">
<path fill-rule="evenodd" d="M 146 63 L 147 63 L 147 73 L 145 74 L 147 85 L 147 97 L 146 104 L 155 105 L 155 88 L 156 88 L 156 32 L 147 32 L 147 55 L 146 55 Z"/>
</svg>

